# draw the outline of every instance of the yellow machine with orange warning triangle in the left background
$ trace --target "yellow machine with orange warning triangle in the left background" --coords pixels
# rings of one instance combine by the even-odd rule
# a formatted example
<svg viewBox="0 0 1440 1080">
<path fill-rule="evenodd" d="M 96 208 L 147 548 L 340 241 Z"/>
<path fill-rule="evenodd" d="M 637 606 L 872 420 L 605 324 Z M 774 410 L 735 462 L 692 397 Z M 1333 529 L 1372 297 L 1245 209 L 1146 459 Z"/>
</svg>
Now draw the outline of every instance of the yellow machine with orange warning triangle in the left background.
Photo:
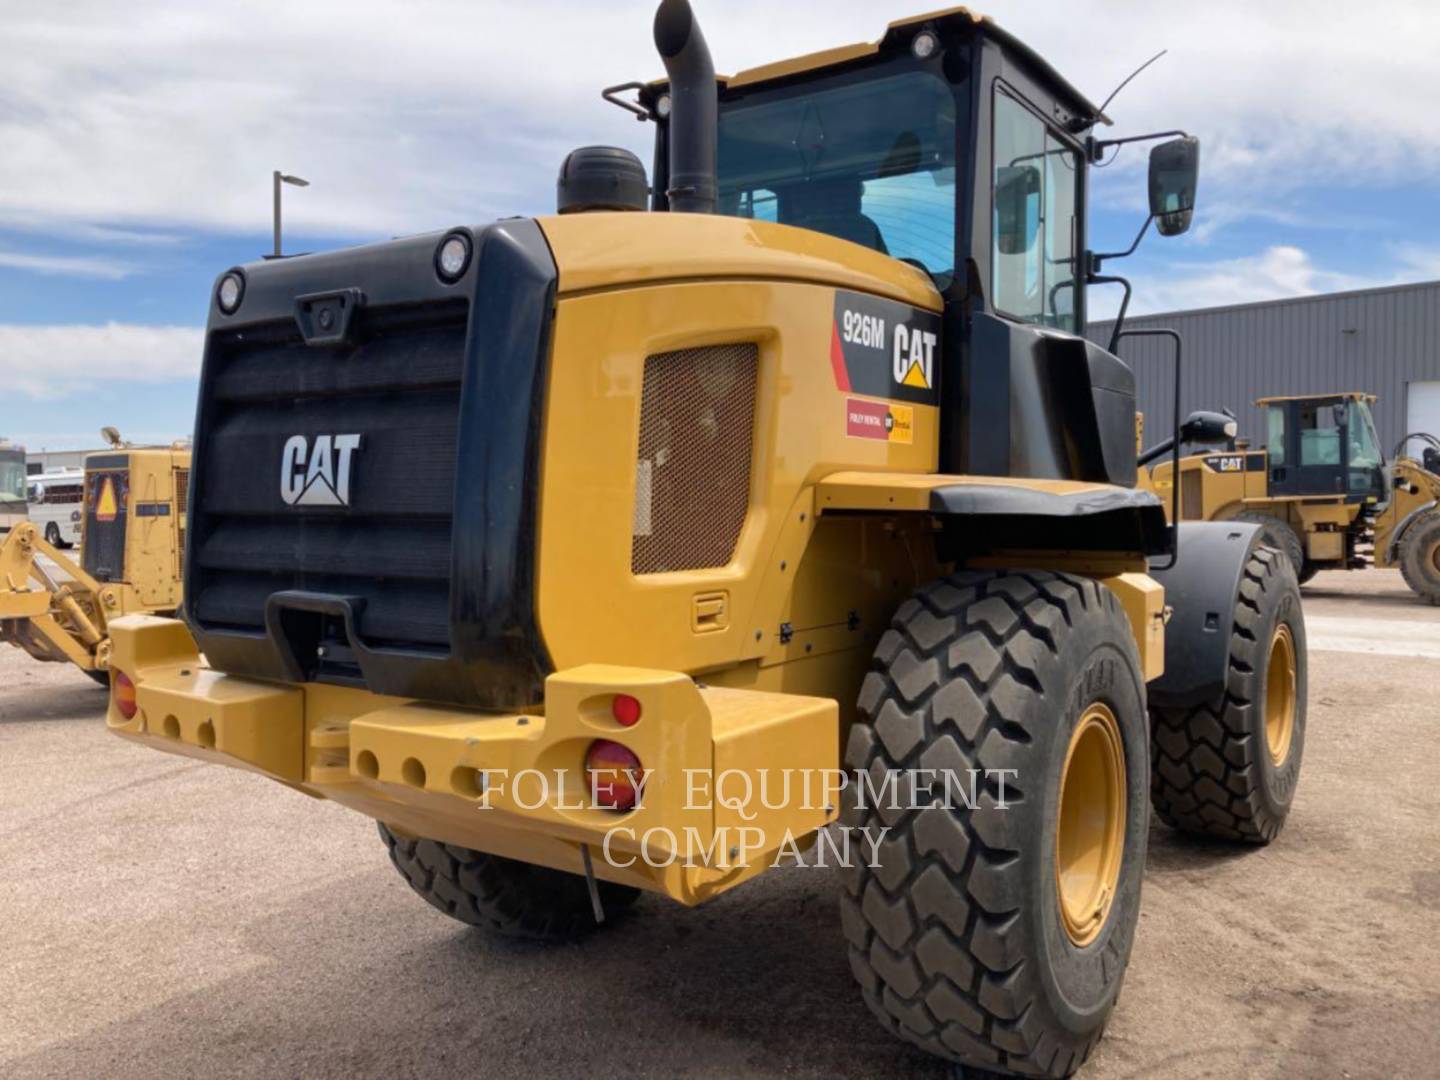
<svg viewBox="0 0 1440 1080">
<path fill-rule="evenodd" d="M 114 451 L 85 459 L 79 562 L 29 521 L 0 543 L 0 641 L 101 683 L 112 619 L 180 606 L 190 482 L 189 446 L 127 446 L 118 435 L 114 442 Z"/>
</svg>

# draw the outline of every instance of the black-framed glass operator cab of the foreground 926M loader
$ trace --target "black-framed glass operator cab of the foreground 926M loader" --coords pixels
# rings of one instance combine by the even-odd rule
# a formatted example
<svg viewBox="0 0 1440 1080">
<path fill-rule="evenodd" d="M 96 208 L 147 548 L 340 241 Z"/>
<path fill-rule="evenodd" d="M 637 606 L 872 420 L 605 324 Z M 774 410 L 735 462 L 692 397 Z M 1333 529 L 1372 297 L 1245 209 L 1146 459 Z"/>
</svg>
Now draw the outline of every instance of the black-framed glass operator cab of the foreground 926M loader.
<svg viewBox="0 0 1440 1080">
<path fill-rule="evenodd" d="M 658 43 L 683 39 L 671 16 L 691 29 L 662 6 Z M 1151 154 L 1140 230 L 1178 235 L 1194 210 L 1194 138 L 1096 138 L 1110 122 L 1100 107 L 963 9 L 730 76 L 703 42 L 661 55 L 668 81 L 606 91 L 655 121 L 651 209 L 809 229 L 929 275 L 945 302 L 940 471 L 1133 487 L 1123 305 L 1109 348 L 1081 337 L 1089 284 L 1123 285 L 1128 301 L 1100 269 L 1129 252 L 1087 248 L 1086 173 L 1119 143 L 1181 135 Z M 634 102 L 615 96 L 626 89 Z"/>
</svg>

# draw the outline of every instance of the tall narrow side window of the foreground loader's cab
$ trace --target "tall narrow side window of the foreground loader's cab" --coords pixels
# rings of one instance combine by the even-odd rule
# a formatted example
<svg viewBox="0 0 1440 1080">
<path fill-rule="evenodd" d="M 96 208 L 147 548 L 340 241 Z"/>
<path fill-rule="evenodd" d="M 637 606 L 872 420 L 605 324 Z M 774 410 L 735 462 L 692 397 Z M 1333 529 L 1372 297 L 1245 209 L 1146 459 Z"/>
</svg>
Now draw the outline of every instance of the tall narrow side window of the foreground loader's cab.
<svg viewBox="0 0 1440 1080">
<path fill-rule="evenodd" d="M 995 310 L 1074 331 L 1080 157 L 999 86 L 992 153 Z"/>
</svg>

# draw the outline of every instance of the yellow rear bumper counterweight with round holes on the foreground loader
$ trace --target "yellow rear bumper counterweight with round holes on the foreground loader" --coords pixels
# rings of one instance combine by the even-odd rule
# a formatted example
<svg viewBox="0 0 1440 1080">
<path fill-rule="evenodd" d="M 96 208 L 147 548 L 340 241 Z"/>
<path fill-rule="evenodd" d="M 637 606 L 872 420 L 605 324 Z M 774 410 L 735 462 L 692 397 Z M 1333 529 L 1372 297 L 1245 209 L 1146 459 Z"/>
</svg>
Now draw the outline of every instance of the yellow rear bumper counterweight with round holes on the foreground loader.
<svg viewBox="0 0 1440 1080">
<path fill-rule="evenodd" d="M 671 671 L 585 665 L 546 680 L 544 708 L 495 714 L 206 668 L 184 625 L 111 625 L 111 668 L 138 711 L 107 723 L 151 747 L 251 769 L 393 828 L 694 904 L 805 847 L 835 818 L 838 707 L 828 698 L 701 687 Z M 641 720 L 611 716 L 616 694 Z M 593 804 L 585 755 L 619 742 L 644 766 L 641 804 Z"/>
</svg>

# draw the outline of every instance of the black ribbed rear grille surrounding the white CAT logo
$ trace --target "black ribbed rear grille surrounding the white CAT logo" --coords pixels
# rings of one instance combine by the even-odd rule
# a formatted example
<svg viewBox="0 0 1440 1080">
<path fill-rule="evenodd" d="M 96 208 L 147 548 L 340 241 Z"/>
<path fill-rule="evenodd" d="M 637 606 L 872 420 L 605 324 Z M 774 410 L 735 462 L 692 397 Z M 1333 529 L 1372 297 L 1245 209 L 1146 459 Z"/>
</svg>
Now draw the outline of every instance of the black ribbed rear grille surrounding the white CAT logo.
<svg viewBox="0 0 1440 1080">
<path fill-rule="evenodd" d="M 262 632 L 281 590 L 364 600 L 373 647 L 449 645 L 451 510 L 464 301 L 372 308 L 351 344 L 307 346 L 292 320 L 217 334 L 187 603 L 206 629 Z M 360 432 L 346 508 L 281 501 L 295 433 Z"/>
</svg>

